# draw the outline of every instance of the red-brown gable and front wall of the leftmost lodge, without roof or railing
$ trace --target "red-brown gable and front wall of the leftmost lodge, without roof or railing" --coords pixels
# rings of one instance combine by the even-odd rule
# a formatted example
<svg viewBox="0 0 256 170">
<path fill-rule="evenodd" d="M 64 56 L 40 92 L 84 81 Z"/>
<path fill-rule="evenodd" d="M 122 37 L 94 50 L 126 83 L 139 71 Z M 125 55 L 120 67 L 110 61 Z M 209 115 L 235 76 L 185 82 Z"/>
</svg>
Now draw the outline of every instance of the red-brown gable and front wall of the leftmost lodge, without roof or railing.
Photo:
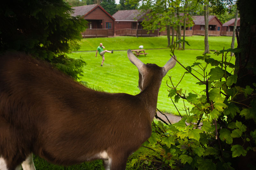
<svg viewBox="0 0 256 170">
<path fill-rule="evenodd" d="M 112 23 L 112 28 L 108 30 L 108 36 L 113 36 L 114 35 L 114 27 L 115 23 L 114 20 L 100 7 L 95 8 L 92 12 L 90 12 L 88 15 L 84 17 L 84 19 L 98 19 L 102 20 L 102 28 L 106 28 L 106 22 L 111 22 Z"/>
</svg>

